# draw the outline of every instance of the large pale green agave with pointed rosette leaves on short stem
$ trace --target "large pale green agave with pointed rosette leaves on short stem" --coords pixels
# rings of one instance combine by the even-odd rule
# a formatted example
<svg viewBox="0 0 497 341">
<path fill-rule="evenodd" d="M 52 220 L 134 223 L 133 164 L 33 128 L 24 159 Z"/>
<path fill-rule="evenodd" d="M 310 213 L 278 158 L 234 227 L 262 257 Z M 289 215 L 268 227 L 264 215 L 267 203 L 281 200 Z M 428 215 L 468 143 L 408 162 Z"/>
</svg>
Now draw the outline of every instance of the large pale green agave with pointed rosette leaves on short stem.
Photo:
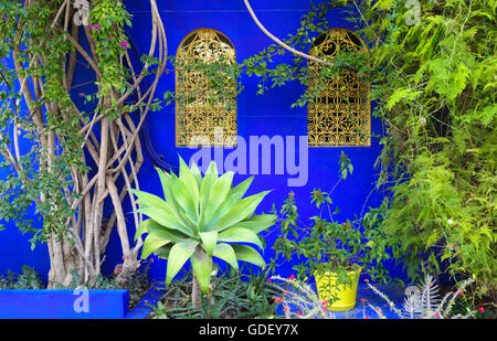
<svg viewBox="0 0 497 341">
<path fill-rule="evenodd" d="M 148 233 L 141 258 L 152 253 L 168 259 L 166 285 L 190 259 L 193 271 L 193 306 L 200 302 L 200 289 L 207 294 L 214 269 L 213 257 L 225 260 L 236 270 L 239 260 L 262 268 L 266 264 L 254 244 L 263 245 L 257 233 L 276 220 L 273 214 L 254 215 L 255 209 L 269 192 L 243 198 L 253 177 L 232 188 L 233 172 L 218 174 L 211 162 L 204 177 L 193 163 L 191 169 L 180 158 L 179 178 L 157 169 L 165 200 L 157 195 L 134 190 L 138 198 L 138 212 L 149 216 L 136 232 L 135 238 Z"/>
</svg>

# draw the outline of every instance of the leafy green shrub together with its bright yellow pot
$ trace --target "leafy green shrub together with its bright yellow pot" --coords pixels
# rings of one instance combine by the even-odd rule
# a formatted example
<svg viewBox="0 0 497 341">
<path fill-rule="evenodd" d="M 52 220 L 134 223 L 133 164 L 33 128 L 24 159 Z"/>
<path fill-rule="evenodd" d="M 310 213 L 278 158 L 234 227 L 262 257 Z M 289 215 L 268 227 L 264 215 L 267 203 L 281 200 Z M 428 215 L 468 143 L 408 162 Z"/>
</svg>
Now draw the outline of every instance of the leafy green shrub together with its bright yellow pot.
<svg viewBox="0 0 497 341">
<path fill-rule="evenodd" d="M 341 177 L 337 184 L 353 171 L 350 160 L 340 156 Z M 337 185 L 334 187 L 334 190 Z M 303 259 L 294 266 L 300 279 L 315 277 L 319 298 L 328 301 L 334 311 L 353 309 L 359 277 L 366 271 L 373 279 L 390 281 L 382 260 L 389 259 L 385 238 L 378 226 L 379 210 L 371 210 L 362 219 L 337 221 L 338 207 L 332 207 L 331 192 L 315 189 L 310 203 L 317 209 L 310 224 L 298 219 L 295 194 L 289 193 L 279 214 L 281 236 L 274 248 L 276 259 L 284 256 L 290 260 L 295 255 Z"/>
</svg>

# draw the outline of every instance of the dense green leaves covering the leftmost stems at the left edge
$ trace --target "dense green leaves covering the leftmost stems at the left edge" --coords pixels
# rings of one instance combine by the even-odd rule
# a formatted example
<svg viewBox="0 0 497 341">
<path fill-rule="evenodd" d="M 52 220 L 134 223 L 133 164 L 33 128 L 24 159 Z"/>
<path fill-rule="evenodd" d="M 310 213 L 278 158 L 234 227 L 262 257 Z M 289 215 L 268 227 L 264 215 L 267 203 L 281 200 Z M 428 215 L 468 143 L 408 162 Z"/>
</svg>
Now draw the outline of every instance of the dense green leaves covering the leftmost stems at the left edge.
<svg viewBox="0 0 497 341">
<path fill-rule="evenodd" d="M 63 228 L 61 222 L 73 213 L 64 196 L 64 190 L 73 187 L 71 169 L 86 169 L 78 147 L 82 141 L 77 128 L 78 116 L 61 81 L 65 77 L 62 65 L 71 46 L 60 34 L 59 28 L 52 28 L 54 11 L 60 3 L 40 1 L 23 7 L 20 1 L 10 1 L 0 6 L 0 17 L 3 18 L 0 21 L 0 60 L 12 58 L 17 64 L 12 68 L 8 64 L 0 64 L 2 159 L 19 147 L 18 140 L 25 139 L 32 143 L 31 149 L 17 159 L 17 168 L 7 159 L 0 164 L 11 173 L 0 181 L 0 220 L 15 221 L 21 232 L 31 233 L 32 247 L 45 238 L 47 230 L 59 232 Z M 34 54 L 43 55 L 43 66 L 33 63 Z M 17 103 L 20 99 L 19 88 L 14 88 L 14 84 L 24 77 L 40 79 L 43 86 L 43 96 L 31 98 L 29 111 L 20 109 Z M 45 110 L 42 122 L 33 120 L 34 113 L 43 108 L 52 109 Z M 13 127 L 14 134 L 11 132 Z M 53 150 L 49 150 L 46 143 L 51 132 L 57 136 Z M 47 163 L 51 163 L 50 171 Z M 34 202 L 38 202 L 35 213 L 45 217 L 45 230 L 34 228 L 33 222 L 25 219 Z"/>
</svg>

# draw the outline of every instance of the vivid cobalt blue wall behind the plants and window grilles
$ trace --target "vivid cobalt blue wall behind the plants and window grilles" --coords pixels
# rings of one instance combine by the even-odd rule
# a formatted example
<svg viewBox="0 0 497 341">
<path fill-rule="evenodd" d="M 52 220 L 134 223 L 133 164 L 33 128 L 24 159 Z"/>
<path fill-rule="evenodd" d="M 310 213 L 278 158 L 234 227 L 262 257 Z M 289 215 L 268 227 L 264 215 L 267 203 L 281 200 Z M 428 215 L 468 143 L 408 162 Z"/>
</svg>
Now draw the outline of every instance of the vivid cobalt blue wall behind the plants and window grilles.
<svg viewBox="0 0 497 341">
<path fill-rule="evenodd" d="M 214 0 L 181 0 L 181 1 L 158 1 L 159 11 L 166 26 L 168 39 L 168 54 L 173 55 L 181 40 L 191 31 L 200 28 L 211 28 L 221 31 L 234 44 L 236 58 L 239 62 L 260 52 L 272 43 L 252 21 L 243 1 L 214 1 Z M 125 1 L 130 13 L 133 13 L 134 26 L 130 30 L 130 38 L 138 58 L 149 50 L 150 42 L 150 9 L 148 1 Z M 252 7 L 256 11 L 260 20 L 276 36 L 285 38 L 288 33 L 294 33 L 299 26 L 300 17 L 310 7 L 308 0 L 253 0 Z M 340 11 L 331 11 L 329 15 L 330 28 L 341 26 L 353 30 L 349 22 L 345 20 L 346 14 Z M 286 55 L 277 61 L 288 61 Z M 84 68 L 78 70 L 76 82 L 88 78 Z M 250 136 L 306 136 L 307 135 L 307 111 L 306 108 L 290 108 L 290 105 L 300 96 L 304 88 L 298 83 L 288 84 L 283 88 L 275 88 L 265 95 L 257 96 L 257 78 L 244 76 L 242 79 L 245 89 L 237 97 L 237 126 L 239 135 L 248 140 Z M 175 73 L 163 75 L 161 78 L 157 97 L 161 98 L 166 90 L 175 89 Z M 76 90 L 73 95 L 77 97 Z M 188 148 L 176 148 L 175 143 L 175 106 L 170 105 L 159 113 L 152 113 L 148 119 L 148 131 L 154 152 L 163 156 L 163 160 L 178 163 L 178 153 L 188 160 L 195 150 Z M 372 132 L 381 134 L 381 122 L 372 119 Z M 298 149 L 298 148 L 297 148 Z M 225 150 L 225 156 L 231 150 Z M 268 212 L 273 205 L 279 206 L 287 198 L 288 191 L 294 191 L 299 207 L 300 217 L 316 214 L 310 209 L 309 195 L 314 188 L 329 191 L 339 179 L 338 160 L 341 151 L 345 151 L 351 159 L 355 171 L 351 178 L 341 182 L 335 190 L 334 202 L 340 207 L 339 220 L 355 219 L 359 215 L 363 205 L 379 205 L 382 201 L 380 193 L 369 195 L 376 182 L 376 171 L 373 163 L 379 156 L 380 146 L 378 139 L 372 138 L 370 147 L 347 147 L 347 148 L 309 148 L 308 150 L 308 182 L 305 187 L 288 188 L 288 178 L 294 175 L 256 175 L 250 193 L 264 190 L 273 190 L 261 204 L 258 212 Z M 151 150 L 145 156 L 139 178 L 140 189 L 161 195 L 160 182 L 154 169 Z M 298 161 L 297 161 L 298 162 Z M 274 164 L 274 156 L 273 162 Z M 4 174 L 1 174 L 4 175 Z M 243 181 L 247 175 L 236 175 L 235 183 Z M 367 201 L 367 202 L 366 202 Z M 125 212 L 130 212 L 130 206 L 125 206 Z M 129 219 L 133 224 L 133 219 Z M 129 226 L 129 233 L 134 235 L 135 227 Z M 267 249 L 265 258 L 272 256 L 276 233 L 267 236 Z M 22 264 L 35 265 L 36 270 L 47 271 L 46 247 L 38 247 L 34 254 L 27 251 L 29 245 L 24 237 L 12 227 L 8 232 L 0 232 L 0 245 L 11 245 L 8 249 L 0 247 L 0 273 L 6 269 L 20 270 Z M 12 255 L 20 255 L 13 257 Z M 121 258 L 120 246 L 115 232 L 108 246 L 104 271 L 109 273 L 115 264 Z M 166 270 L 165 260 L 156 260 L 151 266 L 152 277 L 163 280 Z M 292 273 L 290 265 L 282 267 L 282 275 Z"/>
</svg>

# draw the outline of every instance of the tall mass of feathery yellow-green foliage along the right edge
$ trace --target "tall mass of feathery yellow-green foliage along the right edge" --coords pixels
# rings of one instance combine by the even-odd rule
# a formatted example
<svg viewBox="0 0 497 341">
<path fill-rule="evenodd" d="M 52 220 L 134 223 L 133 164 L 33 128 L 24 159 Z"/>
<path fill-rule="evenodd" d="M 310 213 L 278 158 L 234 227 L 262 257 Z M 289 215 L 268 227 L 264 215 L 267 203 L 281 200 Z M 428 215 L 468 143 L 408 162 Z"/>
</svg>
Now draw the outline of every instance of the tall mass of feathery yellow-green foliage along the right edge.
<svg viewBox="0 0 497 341">
<path fill-rule="evenodd" d="M 356 1 L 348 1 L 355 3 Z M 385 122 L 382 232 L 409 274 L 474 276 L 495 289 L 496 1 L 361 1 L 374 115 Z"/>
</svg>

